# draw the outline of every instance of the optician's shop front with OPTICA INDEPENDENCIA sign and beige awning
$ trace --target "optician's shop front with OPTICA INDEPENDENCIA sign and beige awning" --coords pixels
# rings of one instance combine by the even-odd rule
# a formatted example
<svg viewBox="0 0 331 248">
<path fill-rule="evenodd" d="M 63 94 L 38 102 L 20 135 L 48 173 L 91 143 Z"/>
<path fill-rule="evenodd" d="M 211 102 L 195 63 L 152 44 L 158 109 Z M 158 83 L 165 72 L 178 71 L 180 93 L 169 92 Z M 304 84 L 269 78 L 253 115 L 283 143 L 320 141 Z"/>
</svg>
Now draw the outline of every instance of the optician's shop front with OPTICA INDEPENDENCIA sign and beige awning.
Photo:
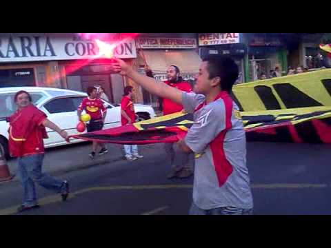
<svg viewBox="0 0 331 248">
<path fill-rule="evenodd" d="M 181 76 L 187 81 L 194 80 L 199 72 L 201 58 L 197 45 L 197 34 L 194 33 L 148 33 L 140 34 L 136 39 L 137 59 L 134 67 L 144 74 L 148 66 L 154 79 L 166 81 L 166 70 L 176 65 Z M 143 103 L 159 107 L 159 99 L 139 88 Z"/>
</svg>

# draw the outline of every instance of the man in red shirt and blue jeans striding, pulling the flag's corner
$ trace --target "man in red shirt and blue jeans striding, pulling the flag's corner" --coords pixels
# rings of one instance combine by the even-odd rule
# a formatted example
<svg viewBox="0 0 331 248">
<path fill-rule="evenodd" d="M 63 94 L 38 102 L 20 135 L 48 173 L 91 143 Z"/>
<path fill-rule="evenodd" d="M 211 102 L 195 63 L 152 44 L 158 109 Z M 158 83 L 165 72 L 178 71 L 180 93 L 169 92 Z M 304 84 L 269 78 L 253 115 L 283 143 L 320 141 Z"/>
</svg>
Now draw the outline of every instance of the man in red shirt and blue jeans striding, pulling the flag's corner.
<svg viewBox="0 0 331 248">
<path fill-rule="evenodd" d="M 60 193 L 62 200 L 66 200 L 69 194 L 68 181 L 43 174 L 41 167 L 45 155 L 43 138 L 48 138 L 45 127 L 54 130 L 69 142 L 67 132 L 49 121 L 46 114 L 31 103 L 28 92 L 17 92 L 14 101 L 18 110 L 7 118 L 10 123 L 9 150 L 11 156 L 18 158 L 18 173 L 24 189 L 24 201 L 17 211 L 39 207 L 34 183 Z"/>
</svg>

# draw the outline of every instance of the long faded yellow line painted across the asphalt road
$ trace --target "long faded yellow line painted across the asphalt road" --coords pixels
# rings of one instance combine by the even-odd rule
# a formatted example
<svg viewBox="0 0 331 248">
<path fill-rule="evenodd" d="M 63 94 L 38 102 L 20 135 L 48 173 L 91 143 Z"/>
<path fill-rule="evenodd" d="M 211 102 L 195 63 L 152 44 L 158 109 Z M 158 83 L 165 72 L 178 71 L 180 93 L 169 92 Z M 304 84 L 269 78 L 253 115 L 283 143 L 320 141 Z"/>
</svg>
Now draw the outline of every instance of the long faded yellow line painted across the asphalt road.
<svg viewBox="0 0 331 248">
<path fill-rule="evenodd" d="M 117 185 L 117 186 L 99 186 L 81 189 L 77 192 L 70 193 L 68 199 L 74 198 L 79 194 L 94 191 L 112 191 L 112 190 L 141 190 L 141 189 L 192 189 L 192 185 Z M 274 184 L 252 184 L 252 189 L 303 189 L 303 188 L 316 188 L 321 189 L 328 187 L 327 184 L 309 184 L 309 183 L 274 183 Z M 39 200 L 39 205 L 44 206 L 51 203 L 61 201 L 59 195 L 47 196 Z M 17 207 L 9 207 L 7 209 L 0 209 L 0 215 L 15 214 Z"/>
</svg>

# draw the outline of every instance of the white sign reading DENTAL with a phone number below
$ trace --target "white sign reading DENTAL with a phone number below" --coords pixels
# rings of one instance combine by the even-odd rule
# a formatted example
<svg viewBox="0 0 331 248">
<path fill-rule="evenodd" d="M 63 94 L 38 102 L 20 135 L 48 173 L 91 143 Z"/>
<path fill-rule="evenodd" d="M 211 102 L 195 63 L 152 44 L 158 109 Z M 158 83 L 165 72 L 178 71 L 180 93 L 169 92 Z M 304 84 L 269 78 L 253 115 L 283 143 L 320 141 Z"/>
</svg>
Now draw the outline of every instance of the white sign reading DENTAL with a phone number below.
<svg viewBox="0 0 331 248">
<path fill-rule="evenodd" d="M 199 45 L 223 45 L 240 43 L 239 33 L 199 34 Z"/>
</svg>

